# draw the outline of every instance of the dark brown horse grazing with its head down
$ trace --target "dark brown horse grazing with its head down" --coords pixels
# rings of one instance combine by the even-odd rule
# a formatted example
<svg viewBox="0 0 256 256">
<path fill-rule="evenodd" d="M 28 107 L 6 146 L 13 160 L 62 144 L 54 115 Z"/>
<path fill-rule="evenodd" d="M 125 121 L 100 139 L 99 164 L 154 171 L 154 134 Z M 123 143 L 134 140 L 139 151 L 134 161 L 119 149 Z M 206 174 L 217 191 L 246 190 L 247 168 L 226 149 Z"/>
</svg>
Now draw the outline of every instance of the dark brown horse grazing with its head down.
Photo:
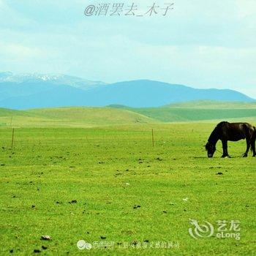
<svg viewBox="0 0 256 256">
<path fill-rule="evenodd" d="M 222 121 L 217 124 L 211 132 L 208 138 L 208 143 L 206 144 L 206 151 L 208 157 L 213 157 L 216 151 L 216 144 L 218 140 L 222 140 L 223 154 L 222 157 L 230 157 L 227 153 L 227 140 L 238 141 L 246 139 L 246 151 L 243 157 L 247 157 L 249 148 L 253 152 L 253 157 L 256 157 L 255 152 L 255 140 L 256 140 L 256 129 L 252 124 L 247 123 L 228 123 L 227 121 Z"/>
</svg>

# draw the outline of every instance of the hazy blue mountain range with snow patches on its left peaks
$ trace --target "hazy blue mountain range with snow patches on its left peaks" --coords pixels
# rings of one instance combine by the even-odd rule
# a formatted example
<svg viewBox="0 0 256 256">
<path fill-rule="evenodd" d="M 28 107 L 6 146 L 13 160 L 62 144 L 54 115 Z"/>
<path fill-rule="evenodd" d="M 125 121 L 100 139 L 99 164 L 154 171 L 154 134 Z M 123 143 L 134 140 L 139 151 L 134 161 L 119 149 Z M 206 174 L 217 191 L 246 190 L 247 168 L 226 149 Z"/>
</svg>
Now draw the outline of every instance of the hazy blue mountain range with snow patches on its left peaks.
<svg viewBox="0 0 256 256">
<path fill-rule="evenodd" d="M 0 73 L 1 108 L 106 105 L 148 108 L 191 100 L 255 101 L 245 94 L 229 89 L 194 89 L 152 80 L 107 84 L 69 75 Z"/>
</svg>

